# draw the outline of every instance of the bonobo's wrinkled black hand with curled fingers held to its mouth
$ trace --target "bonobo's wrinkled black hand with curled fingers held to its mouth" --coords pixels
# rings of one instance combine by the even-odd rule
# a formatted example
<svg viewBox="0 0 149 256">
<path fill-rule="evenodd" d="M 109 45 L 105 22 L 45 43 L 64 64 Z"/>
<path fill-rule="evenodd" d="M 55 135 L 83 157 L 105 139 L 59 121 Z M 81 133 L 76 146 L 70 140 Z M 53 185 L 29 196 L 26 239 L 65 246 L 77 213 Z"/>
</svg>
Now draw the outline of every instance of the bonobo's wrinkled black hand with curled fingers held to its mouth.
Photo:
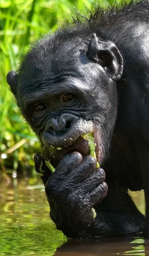
<svg viewBox="0 0 149 256">
<path fill-rule="evenodd" d="M 67 236 L 83 233 L 92 224 L 92 207 L 106 196 L 105 172 L 96 164 L 92 156 L 82 159 L 78 152 L 66 154 L 48 179 L 43 158 L 35 156 L 35 169 L 43 173 L 50 216 Z"/>
</svg>

